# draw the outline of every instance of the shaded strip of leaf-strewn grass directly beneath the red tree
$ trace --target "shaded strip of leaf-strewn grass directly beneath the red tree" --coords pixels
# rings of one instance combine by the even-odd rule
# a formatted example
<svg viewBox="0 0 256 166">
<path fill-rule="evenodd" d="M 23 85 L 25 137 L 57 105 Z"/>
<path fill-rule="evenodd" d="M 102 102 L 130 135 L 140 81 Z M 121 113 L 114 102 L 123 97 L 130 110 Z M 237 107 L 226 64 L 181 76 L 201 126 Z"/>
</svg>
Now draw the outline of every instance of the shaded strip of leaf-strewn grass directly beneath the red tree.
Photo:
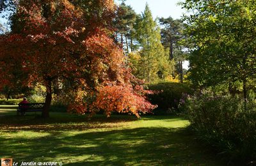
<svg viewBox="0 0 256 166">
<path fill-rule="evenodd" d="M 0 130 L 34 130 L 34 131 L 68 131 L 86 130 L 91 128 L 115 128 L 120 123 L 136 121 L 135 116 L 95 116 L 88 119 L 86 116 L 53 113 L 48 119 L 40 115 L 29 114 L 26 116 L 4 116 L 0 117 Z"/>
</svg>

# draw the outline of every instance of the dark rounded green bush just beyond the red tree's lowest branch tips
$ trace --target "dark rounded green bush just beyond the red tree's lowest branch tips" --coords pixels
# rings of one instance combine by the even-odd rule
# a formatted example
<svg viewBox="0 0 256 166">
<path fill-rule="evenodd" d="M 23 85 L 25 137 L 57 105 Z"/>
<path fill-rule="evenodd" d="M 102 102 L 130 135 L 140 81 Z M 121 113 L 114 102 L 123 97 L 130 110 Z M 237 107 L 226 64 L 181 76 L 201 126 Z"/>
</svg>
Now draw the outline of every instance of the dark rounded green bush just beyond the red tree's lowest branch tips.
<svg viewBox="0 0 256 166">
<path fill-rule="evenodd" d="M 179 103 L 183 102 L 184 94 L 191 94 L 192 90 L 186 84 L 177 82 L 164 82 L 148 86 L 154 94 L 148 95 L 148 100 L 154 105 L 158 105 L 157 112 L 177 110 Z M 182 101 L 181 101 L 182 100 Z"/>
</svg>

